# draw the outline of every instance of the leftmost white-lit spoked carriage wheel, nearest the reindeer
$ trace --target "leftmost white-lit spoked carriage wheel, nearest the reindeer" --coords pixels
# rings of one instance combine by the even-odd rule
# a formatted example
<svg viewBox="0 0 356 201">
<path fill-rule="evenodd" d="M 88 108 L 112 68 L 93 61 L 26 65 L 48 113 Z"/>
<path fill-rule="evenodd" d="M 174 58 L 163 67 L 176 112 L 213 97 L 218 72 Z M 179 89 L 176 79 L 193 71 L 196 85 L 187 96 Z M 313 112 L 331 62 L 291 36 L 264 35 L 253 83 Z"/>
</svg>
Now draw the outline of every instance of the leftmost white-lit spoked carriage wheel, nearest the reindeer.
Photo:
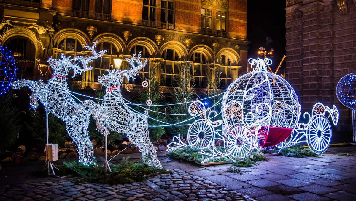
<svg viewBox="0 0 356 201">
<path fill-rule="evenodd" d="M 214 140 L 214 128 L 206 120 L 199 119 L 190 125 L 188 130 L 188 143 L 197 149 L 206 148 Z"/>
</svg>

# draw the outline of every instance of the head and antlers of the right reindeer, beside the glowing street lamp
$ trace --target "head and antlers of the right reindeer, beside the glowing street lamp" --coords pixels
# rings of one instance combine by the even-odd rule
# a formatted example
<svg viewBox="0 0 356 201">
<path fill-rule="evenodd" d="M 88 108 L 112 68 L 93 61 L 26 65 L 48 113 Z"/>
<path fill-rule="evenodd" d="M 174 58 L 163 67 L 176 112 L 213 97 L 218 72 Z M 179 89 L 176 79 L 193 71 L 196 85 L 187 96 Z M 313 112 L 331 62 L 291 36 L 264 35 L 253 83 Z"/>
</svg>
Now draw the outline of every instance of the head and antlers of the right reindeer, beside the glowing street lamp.
<svg viewBox="0 0 356 201">
<path fill-rule="evenodd" d="M 103 75 L 98 77 L 98 81 L 100 84 L 106 87 L 118 87 L 121 85 L 122 80 L 124 77 L 127 78 L 127 80 L 135 79 L 135 76 L 138 74 L 138 71 L 141 70 L 143 67 L 146 66 L 147 60 L 145 62 L 142 62 L 140 60 L 141 57 L 141 51 L 138 53 L 137 58 L 135 58 L 136 54 L 133 54 L 131 59 L 126 58 L 126 60 L 129 62 L 131 68 L 129 70 L 108 70 L 107 75 Z"/>
</svg>

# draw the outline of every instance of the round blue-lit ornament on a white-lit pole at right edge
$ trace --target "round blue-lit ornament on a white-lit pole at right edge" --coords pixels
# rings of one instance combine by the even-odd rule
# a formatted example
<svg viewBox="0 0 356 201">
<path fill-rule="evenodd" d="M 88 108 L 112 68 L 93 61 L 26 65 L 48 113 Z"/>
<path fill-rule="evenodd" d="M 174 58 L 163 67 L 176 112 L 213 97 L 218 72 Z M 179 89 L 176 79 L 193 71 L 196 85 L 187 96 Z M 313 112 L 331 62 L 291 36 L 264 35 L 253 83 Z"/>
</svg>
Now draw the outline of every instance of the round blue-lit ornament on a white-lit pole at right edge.
<svg viewBox="0 0 356 201">
<path fill-rule="evenodd" d="M 348 74 L 342 77 L 336 86 L 336 96 L 339 101 L 352 110 L 353 140 L 356 142 L 356 75 Z"/>
</svg>

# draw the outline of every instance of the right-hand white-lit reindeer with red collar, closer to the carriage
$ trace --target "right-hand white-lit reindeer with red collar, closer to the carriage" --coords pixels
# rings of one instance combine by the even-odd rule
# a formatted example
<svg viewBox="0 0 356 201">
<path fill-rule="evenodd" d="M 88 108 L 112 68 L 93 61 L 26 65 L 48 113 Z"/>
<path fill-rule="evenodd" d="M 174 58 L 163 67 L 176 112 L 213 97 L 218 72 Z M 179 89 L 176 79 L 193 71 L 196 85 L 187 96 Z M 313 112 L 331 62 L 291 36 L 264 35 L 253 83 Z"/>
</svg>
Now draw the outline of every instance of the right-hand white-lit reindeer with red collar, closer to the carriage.
<svg viewBox="0 0 356 201">
<path fill-rule="evenodd" d="M 82 102 L 83 107 L 89 107 L 93 112 L 93 117 L 101 134 L 109 135 L 110 131 L 122 132 L 127 134 L 129 140 L 135 144 L 142 152 L 142 161 L 147 165 L 162 168 L 161 162 L 157 159 L 157 153 L 148 137 L 147 110 L 145 114 L 140 114 L 127 106 L 121 95 L 122 80 L 134 79 L 138 71 L 145 65 L 140 60 L 140 53 L 135 59 L 126 59 L 130 70 L 109 70 L 107 75 L 98 77 L 98 81 L 105 86 L 106 94 L 101 105 L 91 100 Z M 136 66 L 136 65 L 137 66 Z M 108 165 L 108 164 L 106 164 Z M 110 167 L 108 167 L 110 170 Z"/>
</svg>

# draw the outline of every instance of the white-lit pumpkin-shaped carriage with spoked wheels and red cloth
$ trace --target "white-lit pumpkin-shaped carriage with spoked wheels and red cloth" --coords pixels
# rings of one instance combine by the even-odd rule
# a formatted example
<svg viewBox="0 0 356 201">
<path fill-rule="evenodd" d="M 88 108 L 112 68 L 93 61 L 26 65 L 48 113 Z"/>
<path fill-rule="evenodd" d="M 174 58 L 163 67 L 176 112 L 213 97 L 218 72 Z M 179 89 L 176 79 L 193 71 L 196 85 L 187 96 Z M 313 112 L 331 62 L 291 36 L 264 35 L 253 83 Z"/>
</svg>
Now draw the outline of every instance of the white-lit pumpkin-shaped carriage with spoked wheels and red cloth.
<svg viewBox="0 0 356 201">
<path fill-rule="evenodd" d="M 172 142 L 171 150 L 183 147 L 201 149 L 200 153 L 209 158 L 203 163 L 228 156 L 232 160 L 247 157 L 253 149 L 276 146 L 279 149 L 308 142 L 310 149 L 322 153 L 328 149 L 331 141 L 331 117 L 334 125 L 339 119 L 339 111 L 320 102 L 313 107 L 312 114 L 304 113 L 307 123 L 298 122 L 300 105 L 292 86 L 281 76 L 267 71 L 266 65 L 272 60 L 249 59 L 256 65 L 249 72 L 236 79 L 227 89 L 222 99 L 222 121 L 212 121 L 217 116 L 200 101 L 189 106 L 192 116 L 199 116 L 190 125 L 187 145 Z M 328 116 L 326 116 L 328 115 Z M 215 140 L 224 141 L 224 151 L 217 149 Z"/>
</svg>

